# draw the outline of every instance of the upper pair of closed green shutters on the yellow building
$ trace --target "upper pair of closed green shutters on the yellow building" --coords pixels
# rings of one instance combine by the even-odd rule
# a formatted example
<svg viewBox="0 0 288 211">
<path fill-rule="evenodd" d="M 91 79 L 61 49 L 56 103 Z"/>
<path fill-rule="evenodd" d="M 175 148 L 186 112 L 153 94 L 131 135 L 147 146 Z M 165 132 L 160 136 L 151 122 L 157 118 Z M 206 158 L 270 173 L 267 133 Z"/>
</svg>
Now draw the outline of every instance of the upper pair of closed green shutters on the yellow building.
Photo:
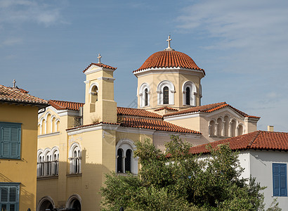
<svg viewBox="0 0 288 211">
<path fill-rule="evenodd" d="M 20 159 L 21 124 L 0 123 L 0 158 Z"/>
</svg>

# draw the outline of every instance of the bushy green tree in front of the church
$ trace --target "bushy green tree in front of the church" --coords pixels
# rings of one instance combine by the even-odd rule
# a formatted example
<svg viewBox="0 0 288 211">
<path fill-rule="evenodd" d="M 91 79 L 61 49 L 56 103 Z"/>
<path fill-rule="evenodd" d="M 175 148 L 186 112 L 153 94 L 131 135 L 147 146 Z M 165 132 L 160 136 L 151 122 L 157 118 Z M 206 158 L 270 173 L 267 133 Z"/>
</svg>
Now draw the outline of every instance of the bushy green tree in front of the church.
<svg viewBox="0 0 288 211">
<path fill-rule="evenodd" d="M 103 210 L 263 210 L 263 187 L 240 179 L 243 168 L 228 145 L 209 148 L 199 158 L 190 144 L 171 136 L 162 153 L 151 143 L 136 142 L 137 176 L 107 174 L 101 188 Z M 270 210 L 279 210 L 277 203 Z"/>
</svg>

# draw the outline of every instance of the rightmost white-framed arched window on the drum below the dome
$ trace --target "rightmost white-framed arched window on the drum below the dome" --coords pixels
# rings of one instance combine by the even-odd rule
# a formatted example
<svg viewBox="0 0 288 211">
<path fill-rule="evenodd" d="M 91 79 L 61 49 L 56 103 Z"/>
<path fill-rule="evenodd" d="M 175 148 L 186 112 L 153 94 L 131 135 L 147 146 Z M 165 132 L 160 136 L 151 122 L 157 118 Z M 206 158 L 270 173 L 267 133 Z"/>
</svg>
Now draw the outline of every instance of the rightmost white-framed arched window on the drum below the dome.
<svg viewBox="0 0 288 211">
<path fill-rule="evenodd" d="M 183 106 L 196 106 L 196 86 L 193 82 L 185 82 L 182 87 Z"/>
</svg>

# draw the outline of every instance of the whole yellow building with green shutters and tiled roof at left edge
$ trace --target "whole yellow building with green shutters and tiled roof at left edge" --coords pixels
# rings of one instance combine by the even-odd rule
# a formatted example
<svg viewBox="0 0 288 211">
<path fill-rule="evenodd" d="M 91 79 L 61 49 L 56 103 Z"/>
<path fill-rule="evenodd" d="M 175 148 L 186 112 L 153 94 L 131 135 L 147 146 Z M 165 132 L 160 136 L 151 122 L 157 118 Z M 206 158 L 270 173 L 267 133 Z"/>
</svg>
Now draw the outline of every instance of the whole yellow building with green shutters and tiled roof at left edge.
<svg viewBox="0 0 288 211">
<path fill-rule="evenodd" d="M 37 115 L 48 102 L 0 85 L 0 209 L 36 210 Z"/>
</svg>

